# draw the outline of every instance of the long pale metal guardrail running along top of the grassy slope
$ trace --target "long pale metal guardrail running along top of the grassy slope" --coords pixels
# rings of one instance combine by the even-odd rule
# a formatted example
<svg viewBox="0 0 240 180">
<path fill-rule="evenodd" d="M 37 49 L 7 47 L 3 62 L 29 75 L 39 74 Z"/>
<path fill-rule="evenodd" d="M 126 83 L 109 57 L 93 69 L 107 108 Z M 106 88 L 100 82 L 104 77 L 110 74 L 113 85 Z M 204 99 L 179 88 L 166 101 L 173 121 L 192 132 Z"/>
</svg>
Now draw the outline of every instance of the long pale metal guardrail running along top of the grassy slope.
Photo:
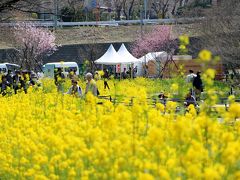
<svg viewBox="0 0 240 180">
<path fill-rule="evenodd" d="M 91 21 L 91 22 L 57 22 L 58 27 L 73 26 L 119 26 L 128 24 L 189 24 L 203 20 L 204 18 L 178 18 L 178 19 L 143 19 L 121 21 Z M 26 22 L 26 21 L 25 21 Z M 29 21 L 27 21 L 29 22 Z M 35 26 L 54 27 L 54 21 L 31 21 Z M 0 23 L 0 26 L 15 26 L 17 22 Z"/>
</svg>

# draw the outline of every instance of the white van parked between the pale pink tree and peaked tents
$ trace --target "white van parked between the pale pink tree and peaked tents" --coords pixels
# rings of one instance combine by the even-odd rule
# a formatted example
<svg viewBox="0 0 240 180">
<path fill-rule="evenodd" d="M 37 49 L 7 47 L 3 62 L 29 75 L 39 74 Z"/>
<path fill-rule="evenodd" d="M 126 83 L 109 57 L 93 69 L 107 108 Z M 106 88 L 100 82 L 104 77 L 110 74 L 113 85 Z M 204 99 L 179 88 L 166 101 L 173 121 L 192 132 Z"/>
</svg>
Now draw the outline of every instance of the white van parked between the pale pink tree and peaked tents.
<svg viewBox="0 0 240 180">
<path fill-rule="evenodd" d="M 63 69 L 63 74 L 67 77 L 68 73 L 73 70 L 76 75 L 79 75 L 79 67 L 76 62 L 53 62 L 43 65 L 44 77 L 54 77 L 54 70 L 57 68 Z"/>
</svg>

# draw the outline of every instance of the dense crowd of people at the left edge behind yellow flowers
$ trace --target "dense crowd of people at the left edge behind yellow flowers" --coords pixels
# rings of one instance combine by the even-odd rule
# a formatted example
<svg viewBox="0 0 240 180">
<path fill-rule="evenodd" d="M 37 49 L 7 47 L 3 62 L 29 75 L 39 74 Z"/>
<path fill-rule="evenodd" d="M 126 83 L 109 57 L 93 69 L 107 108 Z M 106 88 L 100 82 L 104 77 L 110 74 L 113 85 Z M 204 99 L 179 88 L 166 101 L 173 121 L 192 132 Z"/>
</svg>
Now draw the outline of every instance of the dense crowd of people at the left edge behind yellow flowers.
<svg viewBox="0 0 240 180">
<path fill-rule="evenodd" d="M 19 91 L 27 93 L 30 86 L 41 86 L 37 75 L 31 71 L 8 70 L 7 74 L 0 71 L 0 94 L 2 96 L 17 94 Z"/>
</svg>

